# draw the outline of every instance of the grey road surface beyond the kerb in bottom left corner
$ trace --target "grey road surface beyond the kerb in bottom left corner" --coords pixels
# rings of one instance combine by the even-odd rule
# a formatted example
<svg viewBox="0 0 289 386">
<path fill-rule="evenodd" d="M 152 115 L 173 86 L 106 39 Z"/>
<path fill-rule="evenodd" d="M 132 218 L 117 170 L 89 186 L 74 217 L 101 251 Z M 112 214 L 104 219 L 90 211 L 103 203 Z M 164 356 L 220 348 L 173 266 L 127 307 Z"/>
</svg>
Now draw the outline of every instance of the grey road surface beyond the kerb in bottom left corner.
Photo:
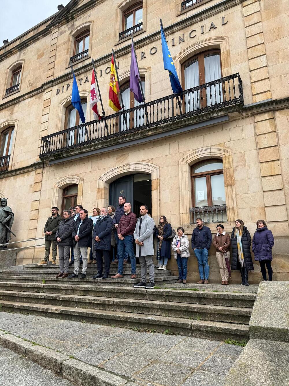
<svg viewBox="0 0 289 386">
<path fill-rule="evenodd" d="M 1 323 L 1 322 L 0 322 Z M 0 346 L 1 386 L 72 386 L 39 364 Z"/>
</svg>

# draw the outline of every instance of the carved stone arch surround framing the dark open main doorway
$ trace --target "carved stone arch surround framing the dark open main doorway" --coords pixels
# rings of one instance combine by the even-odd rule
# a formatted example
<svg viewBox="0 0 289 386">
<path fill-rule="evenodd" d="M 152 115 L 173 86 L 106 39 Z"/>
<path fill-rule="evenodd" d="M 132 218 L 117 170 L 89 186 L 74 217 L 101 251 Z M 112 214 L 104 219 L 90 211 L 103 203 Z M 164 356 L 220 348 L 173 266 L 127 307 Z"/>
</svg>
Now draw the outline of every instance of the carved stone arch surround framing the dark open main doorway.
<svg viewBox="0 0 289 386">
<path fill-rule="evenodd" d="M 134 173 L 151 174 L 151 217 L 157 221 L 160 218 L 160 168 L 157 165 L 146 162 L 117 166 L 102 174 L 97 180 L 96 206 L 101 208 L 109 205 L 110 183 L 120 177 Z"/>
</svg>

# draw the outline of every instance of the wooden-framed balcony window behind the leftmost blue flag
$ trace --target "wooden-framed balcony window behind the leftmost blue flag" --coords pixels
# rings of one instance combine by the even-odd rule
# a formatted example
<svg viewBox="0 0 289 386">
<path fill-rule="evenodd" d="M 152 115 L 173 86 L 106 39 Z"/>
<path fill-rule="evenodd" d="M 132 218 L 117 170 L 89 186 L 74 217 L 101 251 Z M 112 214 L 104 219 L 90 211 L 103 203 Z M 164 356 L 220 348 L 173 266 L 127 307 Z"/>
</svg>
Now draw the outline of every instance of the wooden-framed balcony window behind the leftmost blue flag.
<svg viewBox="0 0 289 386">
<path fill-rule="evenodd" d="M 87 106 L 86 99 L 81 100 L 81 105 L 84 113 L 84 118 L 86 118 L 86 106 Z M 81 124 L 82 122 L 76 108 L 72 105 L 68 106 L 66 108 L 66 113 L 65 113 L 64 129 L 70 129 L 71 127 L 73 128 Z M 71 146 L 76 143 L 84 142 L 85 128 L 81 127 L 80 129 L 78 128 L 78 129 L 72 129 L 67 131 L 64 141 L 66 142 L 66 146 Z"/>
</svg>

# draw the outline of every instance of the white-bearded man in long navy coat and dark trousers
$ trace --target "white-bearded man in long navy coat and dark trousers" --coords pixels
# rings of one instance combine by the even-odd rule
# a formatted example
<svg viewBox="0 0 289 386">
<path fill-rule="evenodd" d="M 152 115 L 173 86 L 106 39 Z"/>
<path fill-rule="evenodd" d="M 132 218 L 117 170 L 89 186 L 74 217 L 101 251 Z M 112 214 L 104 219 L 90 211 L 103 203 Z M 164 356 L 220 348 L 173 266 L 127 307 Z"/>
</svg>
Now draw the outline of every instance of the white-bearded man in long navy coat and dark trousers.
<svg viewBox="0 0 289 386">
<path fill-rule="evenodd" d="M 95 223 L 93 237 L 95 240 L 95 251 L 97 261 L 97 275 L 92 279 L 107 279 L 110 264 L 111 229 L 113 219 L 108 215 L 106 208 L 101 208 L 100 219 Z M 102 256 L 104 257 L 104 275 L 102 276 Z"/>
</svg>

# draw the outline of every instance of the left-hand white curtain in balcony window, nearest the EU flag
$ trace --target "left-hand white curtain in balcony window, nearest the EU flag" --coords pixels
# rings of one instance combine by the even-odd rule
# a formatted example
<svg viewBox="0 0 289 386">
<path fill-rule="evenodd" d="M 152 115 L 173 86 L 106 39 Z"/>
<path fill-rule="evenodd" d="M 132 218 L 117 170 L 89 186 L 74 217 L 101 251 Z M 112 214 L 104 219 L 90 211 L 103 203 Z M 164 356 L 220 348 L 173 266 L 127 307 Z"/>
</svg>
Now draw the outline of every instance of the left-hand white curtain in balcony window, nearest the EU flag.
<svg viewBox="0 0 289 386">
<path fill-rule="evenodd" d="M 199 64 L 195 60 L 190 66 L 185 68 L 185 89 L 196 87 L 200 84 L 199 81 Z M 197 100 L 198 99 L 198 100 Z M 197 110 L 200 107 L 200 93 L 194 91 L 185 96 L 186 112 Z"/>
</svg>

